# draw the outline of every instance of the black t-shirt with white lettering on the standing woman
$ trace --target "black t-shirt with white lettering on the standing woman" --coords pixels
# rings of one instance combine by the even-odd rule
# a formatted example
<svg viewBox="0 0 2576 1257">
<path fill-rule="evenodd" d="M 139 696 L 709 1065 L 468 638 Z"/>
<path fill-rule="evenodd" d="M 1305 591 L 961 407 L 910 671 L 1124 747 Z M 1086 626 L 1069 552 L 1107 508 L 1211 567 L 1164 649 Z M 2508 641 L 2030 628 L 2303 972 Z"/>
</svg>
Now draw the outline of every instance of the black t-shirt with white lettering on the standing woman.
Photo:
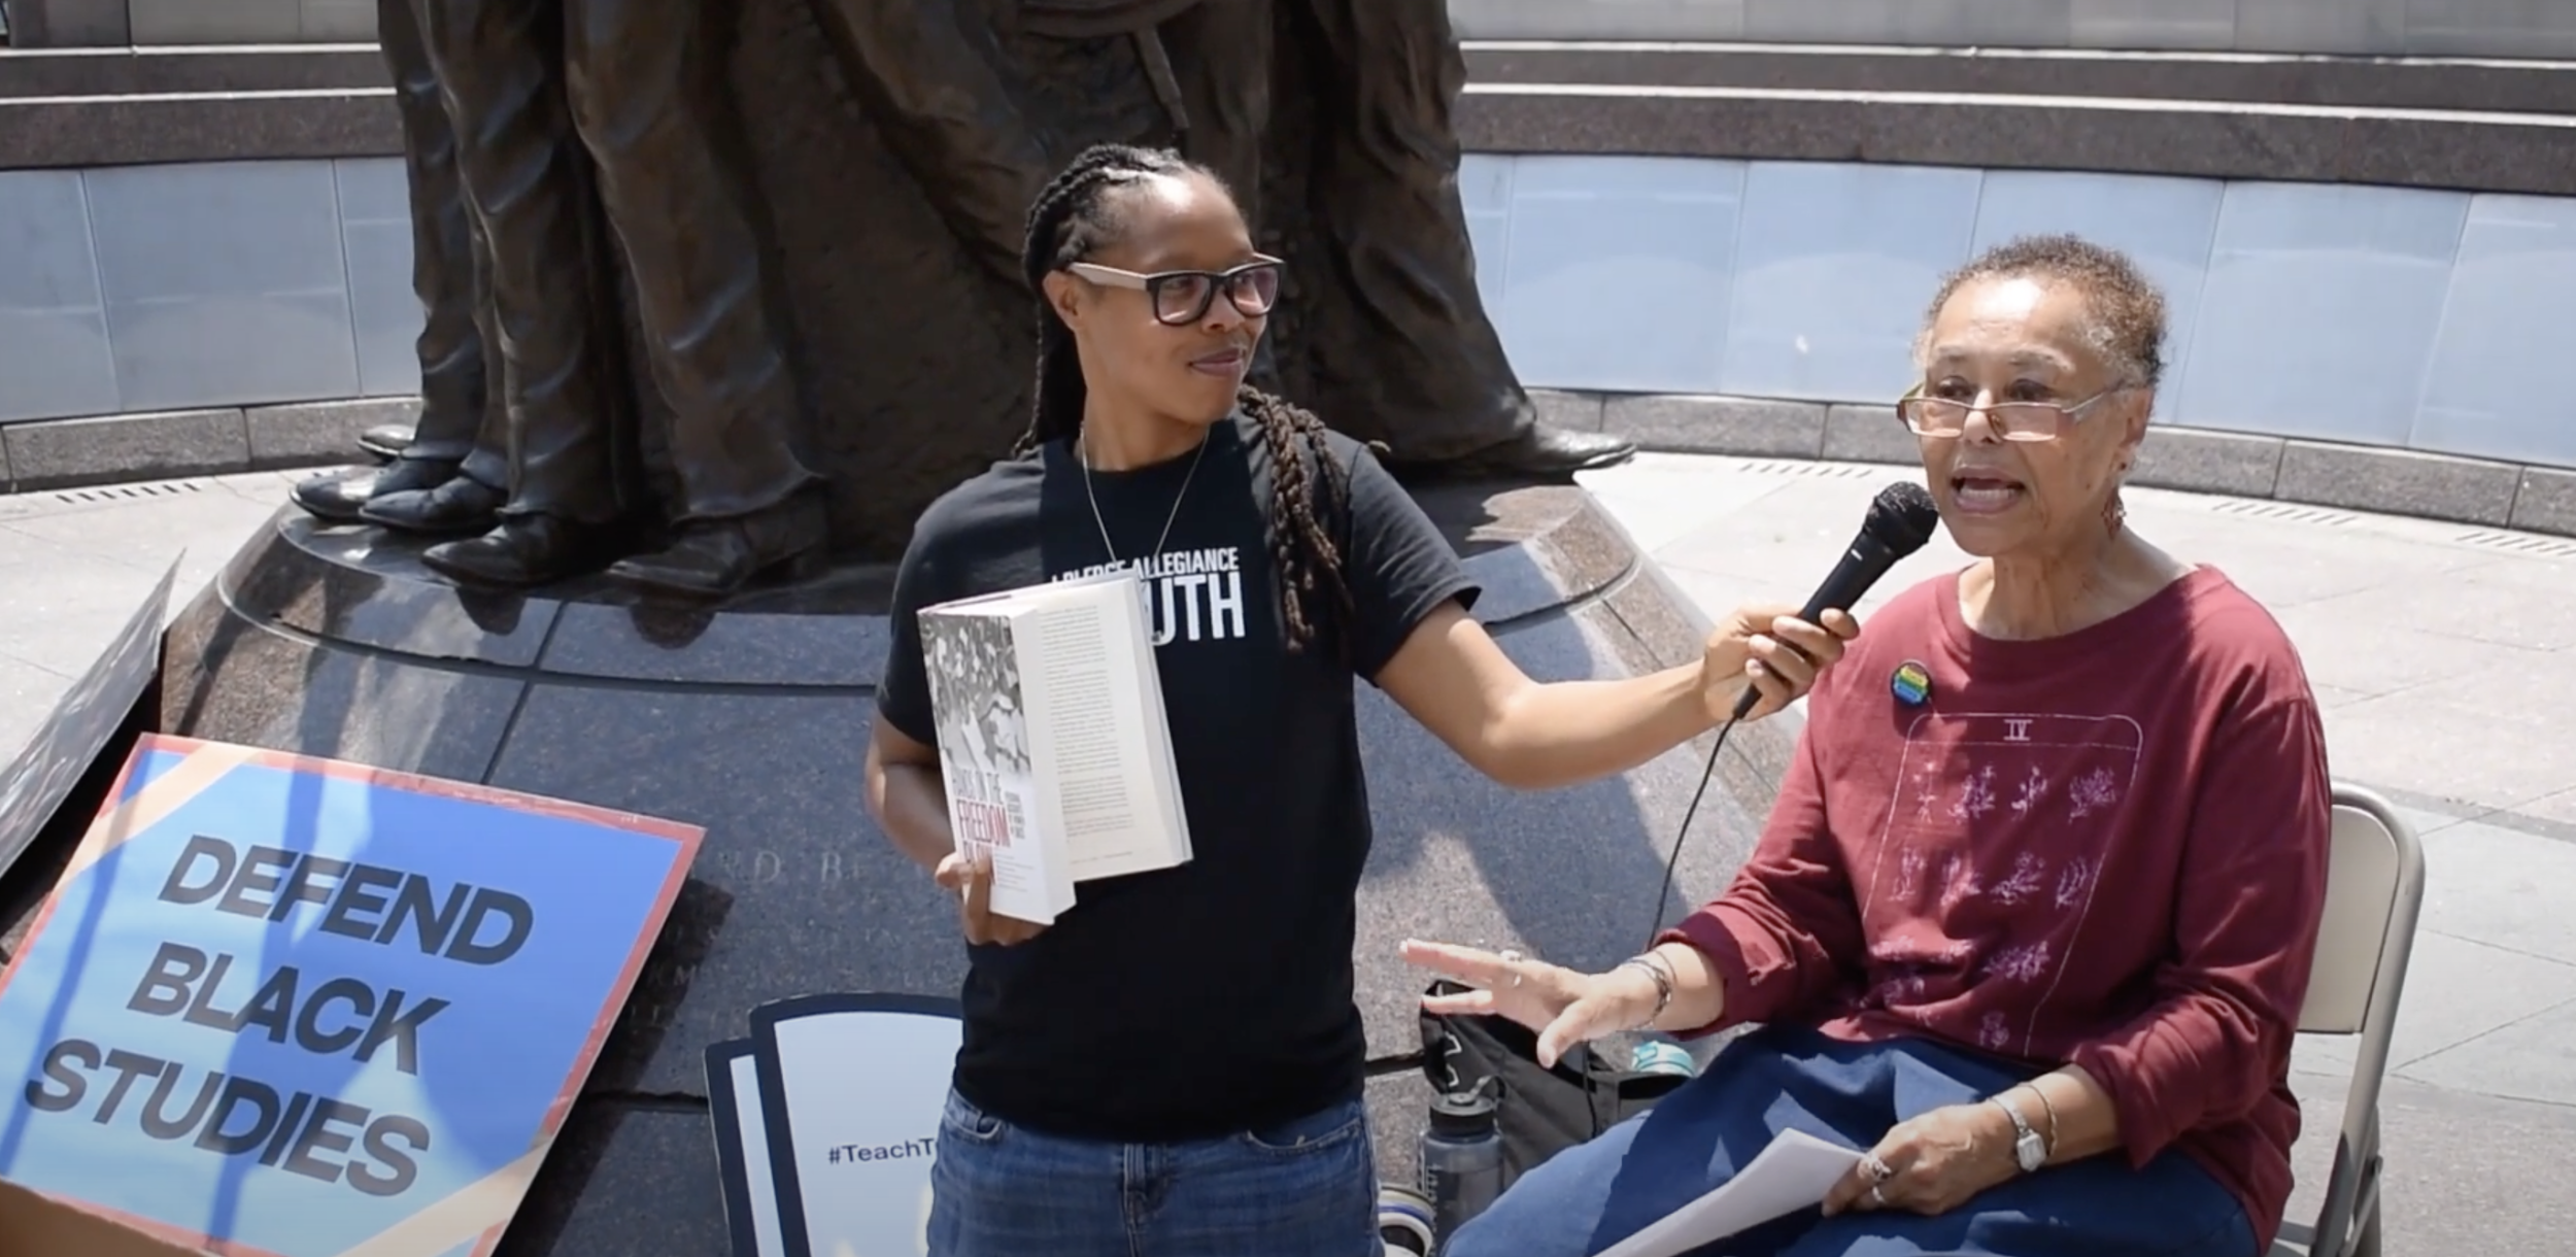
<svg viewBox="0 0 2576 1257">
<path fill-rule="evenodd" d="M 997 1118 L 1177 1141 L 1360 1092 L 1350 948 L 1370 822 L 1352 677 L 1376 677 L 1443 600 L 1473 605 L 1479 590 L 1365 446 L 1332 435 L 1329 451 L 1347 495 L 1314 482 L 1314 502 L 1355 613 L 1319 582 L 1303 605 L 1321 636 L 1301 654 L 1273 551 L 1293 525 L 1273 520 L 1267 446 L 1242 415 L 1208 433 L 1203 456 L 1095 471 L 1097 520 L 1082 464 L 1056 440 L 951 489 L 914 525 L 881 719 L 935 742 L 922 605 L 1097 572 L 1108 528 L 1118 559 L 1146 564 L 1190 819 L 1190 863 L 1084 881 L 1038 938 L 969 948 L 956 1087 Z M 1301 461 L 1311 474 L 1311 453 Z M 1164 520 L 1170 541 L 1151 554 Z"/>
</svg>

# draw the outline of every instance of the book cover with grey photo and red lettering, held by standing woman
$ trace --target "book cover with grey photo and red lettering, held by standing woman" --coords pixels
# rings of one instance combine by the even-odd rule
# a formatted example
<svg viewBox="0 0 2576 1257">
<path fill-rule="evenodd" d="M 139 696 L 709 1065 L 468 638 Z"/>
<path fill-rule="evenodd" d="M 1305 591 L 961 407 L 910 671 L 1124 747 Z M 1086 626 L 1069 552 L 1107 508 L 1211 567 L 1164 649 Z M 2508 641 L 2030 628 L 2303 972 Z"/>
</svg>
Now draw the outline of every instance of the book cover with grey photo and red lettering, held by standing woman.
<svg viewBox="0 0 2576 1257">
<path fill-rule="evenodd" d="M 1012 621 L 922 610 L 922 662 L 958 853 L 992 860 L 994 912 L 1054 925 L 1074 899 L 1074 878 L 1038 791 Z"/>
</svg>

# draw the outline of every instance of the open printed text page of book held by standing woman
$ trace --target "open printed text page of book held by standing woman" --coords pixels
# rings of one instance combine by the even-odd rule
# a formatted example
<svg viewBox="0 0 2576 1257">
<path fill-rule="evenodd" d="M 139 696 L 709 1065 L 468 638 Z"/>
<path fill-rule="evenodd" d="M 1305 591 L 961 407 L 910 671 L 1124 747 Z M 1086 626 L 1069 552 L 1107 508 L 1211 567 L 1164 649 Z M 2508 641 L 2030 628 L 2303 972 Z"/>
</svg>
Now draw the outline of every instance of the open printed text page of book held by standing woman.
<svg viewBox="0 0 2576 1257">
<path fill-rule="evenodd" d="M 1038 744 L 1077 881 L 1190 858 L 1188 829 L 1172 824 L 1180 778 L 1170 732 L 1157 737 L 1146 721 L 1146 685 L 1157 677 L 1136 662 L 1141 582 L 1123 577 L 1066 587 L 1025 621 L 1036 634 L 1028 657 Z M 1159 703 L 1151 708 L 1159 716 Z"/>
</svg>

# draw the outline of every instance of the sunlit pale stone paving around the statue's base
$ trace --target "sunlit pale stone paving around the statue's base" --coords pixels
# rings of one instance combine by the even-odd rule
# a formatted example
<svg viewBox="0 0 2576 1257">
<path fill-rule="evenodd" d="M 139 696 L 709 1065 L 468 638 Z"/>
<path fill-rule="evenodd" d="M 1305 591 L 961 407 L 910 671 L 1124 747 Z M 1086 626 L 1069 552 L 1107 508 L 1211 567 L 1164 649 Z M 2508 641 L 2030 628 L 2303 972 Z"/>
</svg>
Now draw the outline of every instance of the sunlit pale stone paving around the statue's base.
<svg viewBox="0 0 2576 1257">
<path fill-rule="evenodd" d="M 1878 487 L 1862 464 L 1641 456 L 1587 474 L 1710 613 L 1806 600 Z M 0 497 L 0 757 L 160 574 L 173 610 L 294 474 Z M 2398 801 L 2429 886 L 2385 1102 L 2388 1252 L 2576 1252 L 2576 543 L 2409 518 L 2136 492 L 2130 523 L 2262 598 L 2326 706 L 2336 778 Z M 1935 538 L 1862 613 L 1965 562 Z M 2313 1213 L 2349 1046 L 2308 1041 Z"/>
</svg>

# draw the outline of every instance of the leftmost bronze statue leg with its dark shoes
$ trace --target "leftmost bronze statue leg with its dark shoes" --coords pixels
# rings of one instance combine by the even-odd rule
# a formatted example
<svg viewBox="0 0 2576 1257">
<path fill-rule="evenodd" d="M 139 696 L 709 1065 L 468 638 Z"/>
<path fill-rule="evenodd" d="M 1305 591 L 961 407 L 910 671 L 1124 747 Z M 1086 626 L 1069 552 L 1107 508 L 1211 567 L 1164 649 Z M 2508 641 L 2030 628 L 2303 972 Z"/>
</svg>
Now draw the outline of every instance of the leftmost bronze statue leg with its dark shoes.
<svg viewBox="0 0 2576 1257">
<path fill-rule="evenodd" d="M 410 533 L 492 528 L 510 484 L 502 410 L 489 373 L 489 317 L 482 294 L 487 250 L 456 180 L 456 131 L 438 98 L 415 0 L 376 0 L 384 67 L 402 118 L 412 185 L 412 291 L 420 294 L 420 420 L 410 430 L 371 430 L 386 466 L 371 474 L 319 474 L 294 487 L 294 502 L 340 523 L 381 523 Z"/>
</svg>

